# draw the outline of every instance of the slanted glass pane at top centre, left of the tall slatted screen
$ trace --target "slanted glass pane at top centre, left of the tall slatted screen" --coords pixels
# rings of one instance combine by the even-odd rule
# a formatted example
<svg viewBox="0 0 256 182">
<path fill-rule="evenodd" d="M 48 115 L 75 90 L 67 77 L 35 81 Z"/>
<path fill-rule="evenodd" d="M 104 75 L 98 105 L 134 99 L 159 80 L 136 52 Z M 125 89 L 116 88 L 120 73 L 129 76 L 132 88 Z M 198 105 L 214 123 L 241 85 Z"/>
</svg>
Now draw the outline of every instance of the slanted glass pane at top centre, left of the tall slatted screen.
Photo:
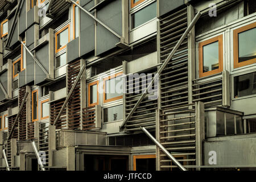
<svg viewBox="0 0 256 182">
<path fill-rule="evenodd" d="M 156 2 L 131 15 L 131 28 L 136 28 L 156 17 Z"/>
</svg>

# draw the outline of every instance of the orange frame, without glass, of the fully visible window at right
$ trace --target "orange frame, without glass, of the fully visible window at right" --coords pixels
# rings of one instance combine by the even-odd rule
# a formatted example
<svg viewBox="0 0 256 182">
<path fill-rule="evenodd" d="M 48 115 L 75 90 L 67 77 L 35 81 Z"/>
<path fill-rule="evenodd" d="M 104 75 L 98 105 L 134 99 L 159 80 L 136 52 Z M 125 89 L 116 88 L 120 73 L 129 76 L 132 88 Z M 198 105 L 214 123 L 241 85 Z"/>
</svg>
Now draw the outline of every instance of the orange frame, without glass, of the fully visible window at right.
<svg viewBox="0 0 256 182">
<path fill-rule="evenodd" d="M 214 69 L 209 72 L 203 72 L 203 47 L 208 44 L 218 42 L 218 69 Z M 199 77 L 205 77 L 209 75 L 214 75 L 220 73 L 223 70 L 223 35 L 216 36 L 212 39 L 205 40 L 199 43 Z"/>
</svg>

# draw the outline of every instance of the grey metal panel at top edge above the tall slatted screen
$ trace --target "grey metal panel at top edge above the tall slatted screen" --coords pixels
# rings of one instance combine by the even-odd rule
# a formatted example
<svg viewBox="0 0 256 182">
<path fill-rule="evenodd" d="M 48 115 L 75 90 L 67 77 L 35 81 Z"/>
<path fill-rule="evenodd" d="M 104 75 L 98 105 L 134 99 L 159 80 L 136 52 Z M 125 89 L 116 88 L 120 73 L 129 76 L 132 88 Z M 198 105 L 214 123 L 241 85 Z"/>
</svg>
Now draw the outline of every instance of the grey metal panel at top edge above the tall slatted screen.
<svg viewBox="0 0 256 182">
<path fill-rule="evenodd" d="M 160 16 L 168 13 L 177 7 L 184 5 L 183 0 L 159 0 L 159 12 Z"/>
</svg>

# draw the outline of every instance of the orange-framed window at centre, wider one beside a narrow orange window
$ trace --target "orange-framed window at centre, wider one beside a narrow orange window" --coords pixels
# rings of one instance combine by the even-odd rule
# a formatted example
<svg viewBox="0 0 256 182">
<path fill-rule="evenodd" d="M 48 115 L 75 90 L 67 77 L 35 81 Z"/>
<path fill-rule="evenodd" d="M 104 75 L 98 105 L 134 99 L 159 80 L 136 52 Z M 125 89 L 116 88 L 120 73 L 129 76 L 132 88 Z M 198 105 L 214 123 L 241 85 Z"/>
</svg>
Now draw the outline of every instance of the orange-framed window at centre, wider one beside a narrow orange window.
<svg viewBox="0 0 256 182">
<path fill-rule="evenodd" d="M 122 72 L 103 79 L 103 102 L 112 102 L 123 98 Z"/>
</svg>

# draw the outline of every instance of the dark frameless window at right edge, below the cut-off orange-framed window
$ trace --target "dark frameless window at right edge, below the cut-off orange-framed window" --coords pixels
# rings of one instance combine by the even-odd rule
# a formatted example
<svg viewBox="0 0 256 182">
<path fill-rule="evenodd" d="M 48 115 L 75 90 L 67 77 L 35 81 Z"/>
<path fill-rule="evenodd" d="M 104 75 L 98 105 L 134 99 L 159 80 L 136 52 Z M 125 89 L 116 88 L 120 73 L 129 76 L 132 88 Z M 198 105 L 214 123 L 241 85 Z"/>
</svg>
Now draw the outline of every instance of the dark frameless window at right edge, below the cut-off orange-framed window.
<svg viewBox="0 0 256 182">
<path fill-rule="evenodd" d="M 234 97 L 256 94 L 256 72 L 234 77 Z"/>
</svg>

